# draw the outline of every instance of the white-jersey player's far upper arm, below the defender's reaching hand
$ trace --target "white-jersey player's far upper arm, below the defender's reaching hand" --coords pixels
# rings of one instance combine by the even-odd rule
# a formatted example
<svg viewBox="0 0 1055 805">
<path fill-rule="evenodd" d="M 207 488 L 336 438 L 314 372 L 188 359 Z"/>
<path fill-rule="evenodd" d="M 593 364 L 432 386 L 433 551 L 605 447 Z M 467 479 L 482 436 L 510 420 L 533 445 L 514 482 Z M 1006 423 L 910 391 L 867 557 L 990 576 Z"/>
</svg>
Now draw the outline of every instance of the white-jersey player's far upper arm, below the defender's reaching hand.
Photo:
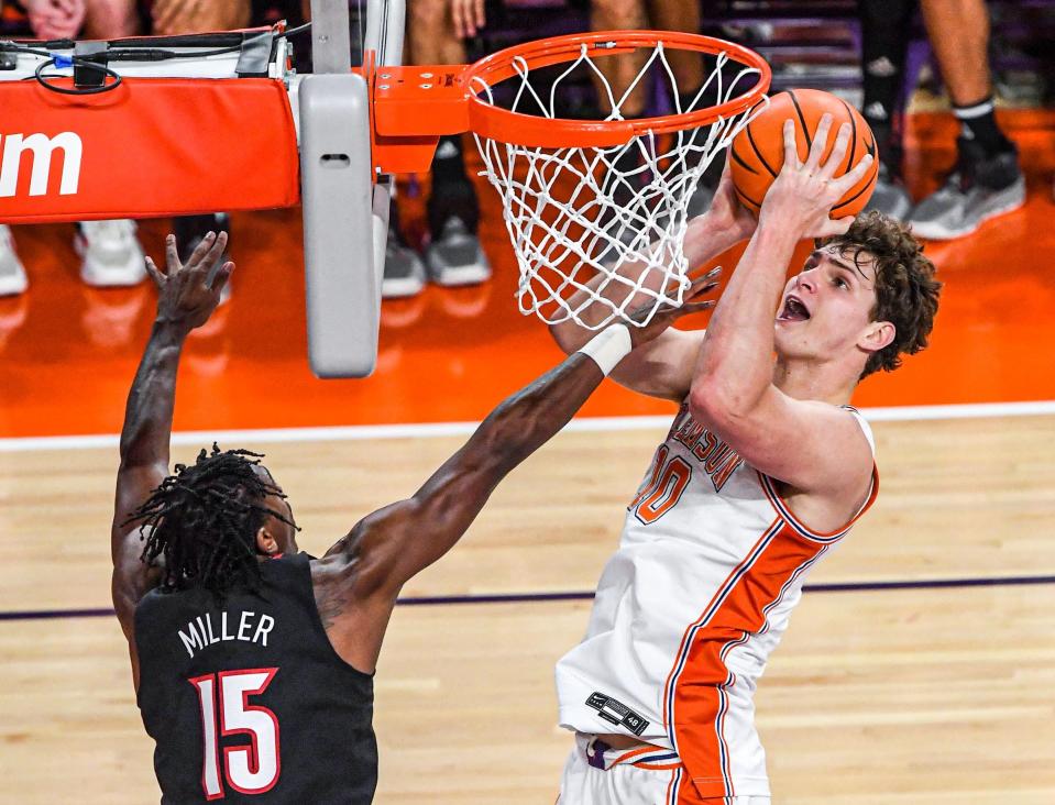
<svg viewBox="0 0 1055 805">
<path fill-rule="evenodd" d="M 681 402 L 692 386 L 705 332 L 666 330 L 623 359 L 609 377 L 631 392 Z"/>
</svg>

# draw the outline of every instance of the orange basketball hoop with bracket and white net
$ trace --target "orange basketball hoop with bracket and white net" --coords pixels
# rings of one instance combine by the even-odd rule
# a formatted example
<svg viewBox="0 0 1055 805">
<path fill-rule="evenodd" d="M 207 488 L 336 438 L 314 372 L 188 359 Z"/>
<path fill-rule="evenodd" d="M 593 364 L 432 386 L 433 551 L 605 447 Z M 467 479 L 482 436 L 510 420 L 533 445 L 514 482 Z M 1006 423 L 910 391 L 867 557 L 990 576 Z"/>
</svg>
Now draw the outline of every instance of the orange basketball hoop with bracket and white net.
<svg viewBox="0 0 1055 805">
<path fill-rule="evenodd" d="M 700 54 L 707 65 L 686 108 L 686 88 L 678 87 L 667 58 L 678 49 Z M 634 52 L 644 66 L 616 95 L 596 60 Z M 649 301 L 653 312 L 684 301 L 690 198 L 715 156 L 762 108 L 771 77 L 761 56 L 746 47 L 668 31 L 558 36 L 466 67 L 402 70 L 383 71 L 375 85 L 375 162 L 395 157 L 389 148 L 424 147 L 421 137 L 407 143 L 400 135 L 471 131 L 517 254 L 520 311 L 590 329 L 629 321 L 627 310 Z M 611 110 L 605 119 L 561 118 L 568 85 L 581 77 L 602 87 Z M 653 84 L 666 90 L 672 112 L 627 119 L 623 108 L 631 91 Z M 625 167 L 629 163 L 633 168 Z M 633 271 L 619 271 L 628 264 Z M 582 313 L 587 307 L 595 313 L 594 302 L 608 315 L 587 323 Z"/>
</svg>

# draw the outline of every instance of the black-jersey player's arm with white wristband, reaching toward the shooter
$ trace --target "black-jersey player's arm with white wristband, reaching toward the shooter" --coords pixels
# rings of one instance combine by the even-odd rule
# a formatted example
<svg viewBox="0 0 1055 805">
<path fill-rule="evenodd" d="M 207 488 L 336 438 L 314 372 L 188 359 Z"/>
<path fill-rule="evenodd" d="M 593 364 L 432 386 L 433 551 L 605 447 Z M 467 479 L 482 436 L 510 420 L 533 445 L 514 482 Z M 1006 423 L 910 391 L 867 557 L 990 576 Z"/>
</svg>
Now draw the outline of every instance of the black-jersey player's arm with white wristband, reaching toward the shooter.
<svg viewBox="0 0 1055 805">
<path fill-rule="evenodd" d="M 403 585 L 454 545 L 498 483 L 567 424 L 631 348 L 712 304 L 690 301 L 646 328 L 614 324 L 596 334 L 503 400 L 410 498 L 369 515 L 333 545 L 315 574 L 316 602 L 341 657 L 372 671 Z"/>
</svg>

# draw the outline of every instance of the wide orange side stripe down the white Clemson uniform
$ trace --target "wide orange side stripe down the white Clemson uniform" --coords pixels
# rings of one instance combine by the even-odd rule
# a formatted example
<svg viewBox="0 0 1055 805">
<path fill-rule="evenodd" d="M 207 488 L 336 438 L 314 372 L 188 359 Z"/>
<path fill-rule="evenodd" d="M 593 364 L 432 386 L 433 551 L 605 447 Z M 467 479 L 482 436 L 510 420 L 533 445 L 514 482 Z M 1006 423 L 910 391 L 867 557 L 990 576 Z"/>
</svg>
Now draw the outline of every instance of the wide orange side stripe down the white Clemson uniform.
<svg viewBox="0 0 1055 805">
<path fill-rule="evenodd" d="M 668 735 L 691 781 L 681 787 L 692 789 L 684 792 L 690 798 L 680 791 L 678 803 L 736 795 L 723 735 L 727 690 L 736 677 L 725 657 L 766 628 L 767 609 L 826 549 L 784 519 L 774 520 L 686 629 L 668 677 L 664 708 Z"/>
</svg>

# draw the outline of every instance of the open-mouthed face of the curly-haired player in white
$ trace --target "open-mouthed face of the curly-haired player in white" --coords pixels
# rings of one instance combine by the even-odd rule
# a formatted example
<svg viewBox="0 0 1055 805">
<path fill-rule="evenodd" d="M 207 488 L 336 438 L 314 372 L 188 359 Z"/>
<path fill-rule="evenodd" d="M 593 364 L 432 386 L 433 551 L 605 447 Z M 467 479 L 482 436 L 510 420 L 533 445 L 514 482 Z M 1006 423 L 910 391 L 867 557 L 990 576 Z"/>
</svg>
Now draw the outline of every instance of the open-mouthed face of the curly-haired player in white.
<svg viewBox="0 0 1055 805">
<path fill-rule="evenodd" d="M 815 250 L 788 280 L 777 311 L 777 352 L 787 357 L 828 359 L 855 349 L 876 307 L 876 265 L 834 246 Z"/>
</svg>

